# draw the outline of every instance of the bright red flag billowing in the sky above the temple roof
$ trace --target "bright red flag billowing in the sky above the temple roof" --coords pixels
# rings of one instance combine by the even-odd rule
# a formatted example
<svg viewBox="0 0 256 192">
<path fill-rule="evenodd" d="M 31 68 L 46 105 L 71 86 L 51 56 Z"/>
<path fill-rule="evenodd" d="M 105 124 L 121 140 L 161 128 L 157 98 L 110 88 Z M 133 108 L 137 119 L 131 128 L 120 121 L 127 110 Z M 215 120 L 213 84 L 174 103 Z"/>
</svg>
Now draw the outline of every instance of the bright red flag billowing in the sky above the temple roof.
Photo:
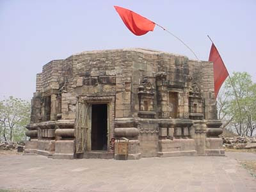
<svg viewBox="0 0 256 192">
<path fill-rule="evenodd" d="M 125 26 L 127 26 L 134 35 L 140 36 L 148 33 L 148 31 L 154 30 L 156 24 L 151 20 L 120 6 L 114 7 L 123 20 Z"/>
</svg>

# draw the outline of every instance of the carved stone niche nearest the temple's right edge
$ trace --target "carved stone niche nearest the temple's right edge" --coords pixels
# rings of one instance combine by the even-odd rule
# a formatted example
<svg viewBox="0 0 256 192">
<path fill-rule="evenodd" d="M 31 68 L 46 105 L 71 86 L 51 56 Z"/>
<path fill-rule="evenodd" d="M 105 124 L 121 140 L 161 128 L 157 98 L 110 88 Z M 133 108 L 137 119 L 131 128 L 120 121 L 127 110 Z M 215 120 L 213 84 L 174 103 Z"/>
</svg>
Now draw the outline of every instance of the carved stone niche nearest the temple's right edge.
<svg viewBox="0 0 256 192">
<path fill-rule="evenodd" d="M 189 90 L 189 118 L 202 120 L 204 118 L 204 99 L 197 83 L 193 83 Z"/>
</svg>

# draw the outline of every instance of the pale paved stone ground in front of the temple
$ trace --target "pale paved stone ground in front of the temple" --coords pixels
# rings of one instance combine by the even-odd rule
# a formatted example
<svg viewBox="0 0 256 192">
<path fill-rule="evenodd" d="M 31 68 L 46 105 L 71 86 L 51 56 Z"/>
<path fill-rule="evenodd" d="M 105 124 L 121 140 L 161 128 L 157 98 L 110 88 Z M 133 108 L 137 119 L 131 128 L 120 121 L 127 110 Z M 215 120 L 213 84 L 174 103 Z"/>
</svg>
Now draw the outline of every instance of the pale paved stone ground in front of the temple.
<svg viewBox="0 0 256 192">
<path fill-rule="evenodd" d="M 135 161 L 1 156 L 0 189 L 31 192 L 256 191 L 256 180 L 231 158 L 232 155 L 151 157 Z"/>
</svg>

